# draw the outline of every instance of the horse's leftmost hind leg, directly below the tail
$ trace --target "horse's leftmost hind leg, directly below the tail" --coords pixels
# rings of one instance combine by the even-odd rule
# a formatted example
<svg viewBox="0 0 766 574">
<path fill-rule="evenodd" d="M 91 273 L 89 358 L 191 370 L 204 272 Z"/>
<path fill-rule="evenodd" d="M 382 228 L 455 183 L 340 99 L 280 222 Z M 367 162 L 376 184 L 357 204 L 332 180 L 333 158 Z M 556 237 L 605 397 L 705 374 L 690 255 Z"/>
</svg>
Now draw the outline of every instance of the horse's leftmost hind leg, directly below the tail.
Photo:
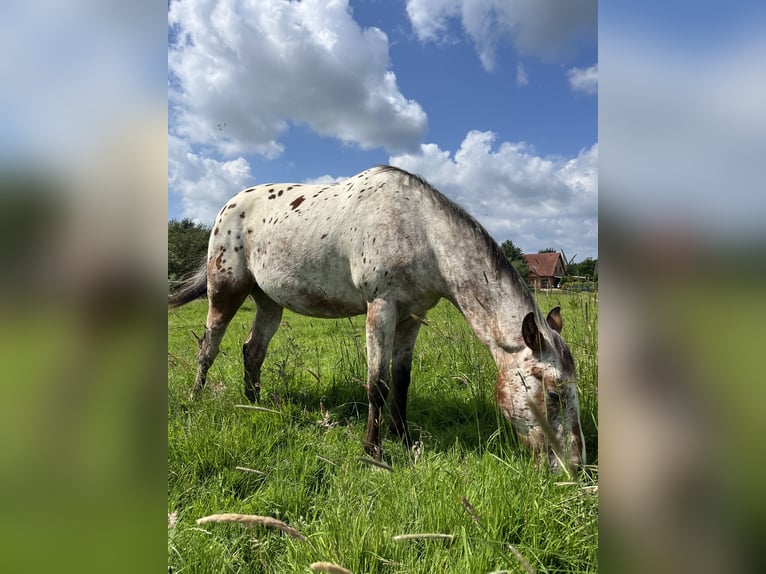
<svg viewBox="0 0 766 574">
<path fill-rule="evenodd" d="M 207 372 L 218 356 L 218 349 L 226 328 L 250 293 L 251 286 L 250 282 L 244 284 L 226 282 L 209 289 L 207 322 L 205 334 L 199 340 L 197 378 L 194 381 L 192 399 L 199 397 L 202 392 L 207 380 Z"/>
</svg>

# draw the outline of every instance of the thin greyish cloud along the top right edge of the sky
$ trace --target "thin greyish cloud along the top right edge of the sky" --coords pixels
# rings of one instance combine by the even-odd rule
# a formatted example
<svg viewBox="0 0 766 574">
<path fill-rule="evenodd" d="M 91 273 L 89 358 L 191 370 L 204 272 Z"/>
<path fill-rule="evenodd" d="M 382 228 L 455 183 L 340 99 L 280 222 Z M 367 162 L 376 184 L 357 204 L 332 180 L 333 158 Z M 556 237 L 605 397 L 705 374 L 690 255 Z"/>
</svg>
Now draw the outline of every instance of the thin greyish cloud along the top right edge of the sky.
<svg viewBox="0 0 766 574">
<path fill-rule="evenodd" d="M 444 41 L 459 19 L 482 65 L 491 70 L 495 52 L 510 41 L 525 54 L 555 61 L 580 37 L 595 40 L 597 0 L 407 0 L 407 14 L 421 41 Z"/>
</svg>

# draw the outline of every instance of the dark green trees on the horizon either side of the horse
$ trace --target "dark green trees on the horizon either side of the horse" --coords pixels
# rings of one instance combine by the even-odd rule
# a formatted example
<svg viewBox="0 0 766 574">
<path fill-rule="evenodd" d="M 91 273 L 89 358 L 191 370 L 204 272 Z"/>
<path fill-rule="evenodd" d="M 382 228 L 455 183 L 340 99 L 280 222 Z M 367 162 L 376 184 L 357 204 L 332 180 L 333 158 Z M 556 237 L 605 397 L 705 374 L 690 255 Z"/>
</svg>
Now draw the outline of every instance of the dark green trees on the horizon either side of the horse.
<svg viewBox="0 0 766 574">
<path fill-rule="evenodd" d="M 210 238 L 211 228 L 201 223 L 195 223 L 191 219 L 168 221 L 168 280 L 178 281 L 196 271 L 204 263 L 207 255 L 207 242 Z M 506 240 L 500 244 L 501 251 L 505 254 L 511 265 L 527 281 L 529 278 L 529 265 L 524 258 L 524 252 L 514 245 L 513 241 Z M 542 249 L 539 253 L 555 252 L 555 249 Z M 579 263 L 565 260 L 566 274 L 569 277 L 584 277 L 589 281 L 597 280 L 596 263 L 598 260 L 588 257 Z"/>
</svg>

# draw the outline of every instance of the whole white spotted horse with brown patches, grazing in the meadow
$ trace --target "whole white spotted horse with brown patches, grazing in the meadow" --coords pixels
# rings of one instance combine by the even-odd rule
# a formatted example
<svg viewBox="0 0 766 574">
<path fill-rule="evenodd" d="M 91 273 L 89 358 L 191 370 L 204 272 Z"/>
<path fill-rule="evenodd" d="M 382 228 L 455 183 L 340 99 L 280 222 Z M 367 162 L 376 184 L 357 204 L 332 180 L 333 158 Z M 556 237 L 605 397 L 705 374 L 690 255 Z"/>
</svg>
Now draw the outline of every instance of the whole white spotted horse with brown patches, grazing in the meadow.
<svg viewBox="0 0 766 574">
<path fill-rule="evenodd" d="M 242 348 L 251 402 L 259 398 L 261 365 L 284 308 L 311 317 L 366 313 L 364 449 L 379 458 L 386 402 L 390 431 L 411 442 L 407 389 L 415 339 L 426 311 L 444 297 L 492 353 L 497 404 L 523 442 L 536 455 L 546 453 L 554 469 L 585 462 L 575 364 L 560 336 L 559 307 L 543 317 L 489 233 L 416 175 L 379 166 L 334 184 L 241 191 L 216 217 L 205 266 L 169 304 L 205 295 L 194 396 L 248 295 L 257 306 Z"/>
</svg>

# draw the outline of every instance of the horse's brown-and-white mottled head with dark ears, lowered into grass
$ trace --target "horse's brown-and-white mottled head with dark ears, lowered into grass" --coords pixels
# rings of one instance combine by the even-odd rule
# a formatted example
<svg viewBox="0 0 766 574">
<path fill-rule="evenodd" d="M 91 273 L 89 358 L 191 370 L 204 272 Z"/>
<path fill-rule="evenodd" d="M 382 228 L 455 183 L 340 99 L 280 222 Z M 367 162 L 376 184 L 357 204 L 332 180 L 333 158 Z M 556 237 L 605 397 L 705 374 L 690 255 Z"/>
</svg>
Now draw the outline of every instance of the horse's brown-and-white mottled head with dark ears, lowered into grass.
<svg viewBox="0 0 766 574">
<path fill-rule="evenodd" d="M 577 373 L 561 327 L 559 307 L 545 325 L 528 313 L 521 329 L 526 346 L 506 357 L 495 387 L 503 414 L 536 456 L 547 455 L 553 470 L 562 463 L 570 468 L 585 464 Z"/>
</svg>

